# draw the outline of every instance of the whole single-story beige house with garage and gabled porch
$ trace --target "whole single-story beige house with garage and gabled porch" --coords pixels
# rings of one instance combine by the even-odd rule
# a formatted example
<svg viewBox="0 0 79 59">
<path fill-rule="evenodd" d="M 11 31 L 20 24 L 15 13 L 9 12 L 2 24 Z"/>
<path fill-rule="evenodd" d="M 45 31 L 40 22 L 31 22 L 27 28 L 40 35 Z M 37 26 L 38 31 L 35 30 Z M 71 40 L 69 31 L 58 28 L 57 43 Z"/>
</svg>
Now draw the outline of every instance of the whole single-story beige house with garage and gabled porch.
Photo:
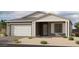
<svg viewBox="0 0 79 59">
<path fill-rule="evenodd" d="M 69 19 L 51 13 L 36 11 L 28 16 L 7 20 L 8 36 L 67 36 L 72 33 Z"/>
</svg>

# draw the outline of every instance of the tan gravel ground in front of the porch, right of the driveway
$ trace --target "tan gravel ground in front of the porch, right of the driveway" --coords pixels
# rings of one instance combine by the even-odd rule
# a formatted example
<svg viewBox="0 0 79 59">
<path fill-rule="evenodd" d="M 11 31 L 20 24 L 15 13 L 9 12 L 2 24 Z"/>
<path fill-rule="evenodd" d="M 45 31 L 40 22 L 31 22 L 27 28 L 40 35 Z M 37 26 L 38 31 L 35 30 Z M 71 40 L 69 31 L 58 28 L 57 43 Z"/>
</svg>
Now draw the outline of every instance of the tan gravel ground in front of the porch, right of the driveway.
<svg viewBox="0 0 79 59">
<path fill-rule="evenodd" d="M 78 40 L 78 38 L 77 38 Z M 50 38 L 22 38 L 20 39 L 21 44 L 35 44 L 35 45 L 44 45 L 41 44 L 41 41 L 47 41 L 47 44 L 45 45 L 55 45 L 55 46 L 79 46 L 75 43 L 76 38 L 74 40 L 69 40 L 68 38 L 62 38 L 62 37 L 50 37 Z"/>
</svg>

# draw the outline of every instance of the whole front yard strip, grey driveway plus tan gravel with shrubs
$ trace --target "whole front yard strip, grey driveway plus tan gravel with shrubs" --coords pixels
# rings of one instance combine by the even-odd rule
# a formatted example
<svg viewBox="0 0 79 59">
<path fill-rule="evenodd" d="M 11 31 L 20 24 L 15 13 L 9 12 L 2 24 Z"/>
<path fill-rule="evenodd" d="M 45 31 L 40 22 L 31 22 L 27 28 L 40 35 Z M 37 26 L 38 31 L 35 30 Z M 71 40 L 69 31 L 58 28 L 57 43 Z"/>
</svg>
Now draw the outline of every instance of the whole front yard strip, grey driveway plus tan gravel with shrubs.
<svg viewBox="0 0 79 59">
<path fill-rule="evenodd" d="M 24 46 L 48 45 L 48 46 L 71 46 L 71 47 L 79 46 L 78 42 L 76 42 L 79 41 L 79 37 L 73 37 L 73 38 L 74 39 L 72 40 L 72 38 L 69 39 L 63 37 L 36 37 L 36 38 L 4 37 L 0 38 L 0 44 L 15 44 L 13 46 L 23 46 L 23 45 Z"/>
</svg>

